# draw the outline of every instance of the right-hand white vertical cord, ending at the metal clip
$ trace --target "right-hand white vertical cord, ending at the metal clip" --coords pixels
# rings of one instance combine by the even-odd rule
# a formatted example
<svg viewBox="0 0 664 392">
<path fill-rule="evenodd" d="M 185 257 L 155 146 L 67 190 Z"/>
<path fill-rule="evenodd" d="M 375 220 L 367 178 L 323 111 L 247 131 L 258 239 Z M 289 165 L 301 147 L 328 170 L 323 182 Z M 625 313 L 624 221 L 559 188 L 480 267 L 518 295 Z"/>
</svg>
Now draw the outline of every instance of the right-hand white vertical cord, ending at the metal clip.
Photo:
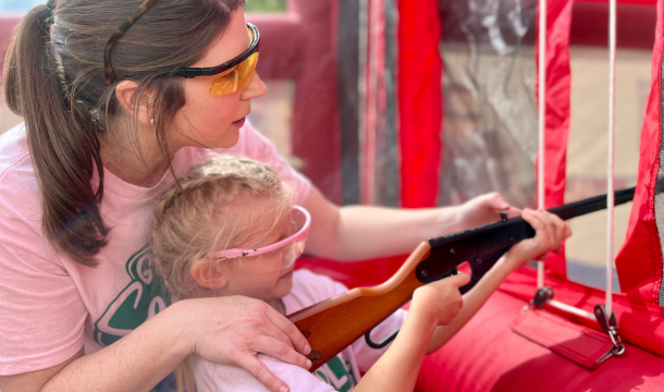
<svg viewBox="0 0 664 392">
<path fill-rule="evenodd" d="M 614 200 L 614 139 L 616 95 L 616 0 L 608 2 L 608 170 L 606 173 L 606 317 L 612 315 L 613 299 L 613 209 Z"/>
</svg>

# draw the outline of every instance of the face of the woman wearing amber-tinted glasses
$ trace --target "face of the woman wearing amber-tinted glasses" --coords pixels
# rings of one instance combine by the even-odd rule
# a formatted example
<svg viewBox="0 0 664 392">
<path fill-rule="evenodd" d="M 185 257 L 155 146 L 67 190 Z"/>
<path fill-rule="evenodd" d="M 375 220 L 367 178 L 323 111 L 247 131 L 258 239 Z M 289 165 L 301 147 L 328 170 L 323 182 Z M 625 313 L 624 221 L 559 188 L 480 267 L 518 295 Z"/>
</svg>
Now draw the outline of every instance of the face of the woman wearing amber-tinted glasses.
<svg viewBox="0 0 664 392">
<path fill-rule="evenodd" d="M 238 8 L 224 33 L 212 41 L 205 56 L 189 66 L 208 68 L 222 64 L 249 47 L 249 34 L 242 8 Z M 251 98 L 266 93 L 266 86 L 254 76 L 243 89 L 212 96 L 210 87 L 217 76 L 200 76 L 184 81 L 185 105 L 175 115 L 172 145 L 219 148 L 237 143 L 238 130 L 251 111 Z"/>
</svg>

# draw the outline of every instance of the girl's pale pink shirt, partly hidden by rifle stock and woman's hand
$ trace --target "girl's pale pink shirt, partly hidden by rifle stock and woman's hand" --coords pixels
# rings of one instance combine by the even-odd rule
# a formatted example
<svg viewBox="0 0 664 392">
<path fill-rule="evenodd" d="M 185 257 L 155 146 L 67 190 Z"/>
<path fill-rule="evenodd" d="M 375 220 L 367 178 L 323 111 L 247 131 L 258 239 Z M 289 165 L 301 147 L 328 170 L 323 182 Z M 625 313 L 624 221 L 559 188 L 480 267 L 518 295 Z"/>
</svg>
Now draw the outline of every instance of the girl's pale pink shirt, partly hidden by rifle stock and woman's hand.
<svg viewBox="0 0 664 392">
<path fill-rule="evenodd" d="M 293 314 L 346 291 L 348 289 L 345 285 L 328 277 L 308 270 L 295 271 L 293 290 L 283 297 L 286 314 Z M 407 311 L 397 310 L 371 332 L 372 340 L 380 342 L 396 331 L 406 320 L 406 316 Z M 362 336 L 336 357 L 318 368 L 315 373 L 267 355 L 259 354 L 257 357 L 274 376 L 288 384 L 291 392 L 346 392 L 353 390 L 357 384 L 360 371 L 369 370 L 389 347 L 390 345 L 381 350 L 373 350 L 367 345 Z M 244 369 L 230 365 L 212 364 L 197 355 L 189 356 L 189 363 L 198 392 L 269 391 Z"/>
</svg>

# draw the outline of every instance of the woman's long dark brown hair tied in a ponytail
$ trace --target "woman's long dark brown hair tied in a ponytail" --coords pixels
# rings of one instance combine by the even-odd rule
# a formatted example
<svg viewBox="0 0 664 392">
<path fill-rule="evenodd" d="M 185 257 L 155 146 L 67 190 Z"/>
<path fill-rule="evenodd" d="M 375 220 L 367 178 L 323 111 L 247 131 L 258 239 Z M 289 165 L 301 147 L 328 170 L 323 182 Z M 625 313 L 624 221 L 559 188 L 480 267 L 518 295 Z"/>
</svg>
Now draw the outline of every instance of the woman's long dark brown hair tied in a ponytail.
<svg viewBox="0 0 664 392">
<path fill-rule="evenodd" d="M 183 79 L 168 76 L 201 58 L 244 5 L 244 0 L 156 1 L 113 46 L 118 82 L 107 86 L 106 42 L 142 2 L 56 0 L 52 11 L 37 5 L 16 27 L 5 60 L 4 95 L 25 119 L 44 233 L 56 252 L 90 267 L 109 233 L 99 211 L 99 151 L 101 134 L 113 132 L 121 113 L 116 84 L 138 83 L 133 107 L 149 88 L 157 139 L 170 161 L 169 124 L 185 101 Z"/>
</svg>

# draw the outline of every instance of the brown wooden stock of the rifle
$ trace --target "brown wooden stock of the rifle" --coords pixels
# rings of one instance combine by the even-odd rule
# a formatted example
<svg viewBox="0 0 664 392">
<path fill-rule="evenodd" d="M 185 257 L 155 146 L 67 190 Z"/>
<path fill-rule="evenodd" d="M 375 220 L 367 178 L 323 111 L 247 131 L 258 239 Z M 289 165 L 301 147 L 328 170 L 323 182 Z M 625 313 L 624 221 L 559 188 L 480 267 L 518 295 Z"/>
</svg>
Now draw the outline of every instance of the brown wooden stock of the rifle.
<svg viewBox="0 0 664 392">
<path fill-rule="evenodd" d="M 415 269 L 431 252 L 422 242 L 389 281 L 373 287 L 357 287 L 288 316 L 311 345 L 313 371 L 358 338 L 406 304 L 426 283 Z"/>
</svg>

